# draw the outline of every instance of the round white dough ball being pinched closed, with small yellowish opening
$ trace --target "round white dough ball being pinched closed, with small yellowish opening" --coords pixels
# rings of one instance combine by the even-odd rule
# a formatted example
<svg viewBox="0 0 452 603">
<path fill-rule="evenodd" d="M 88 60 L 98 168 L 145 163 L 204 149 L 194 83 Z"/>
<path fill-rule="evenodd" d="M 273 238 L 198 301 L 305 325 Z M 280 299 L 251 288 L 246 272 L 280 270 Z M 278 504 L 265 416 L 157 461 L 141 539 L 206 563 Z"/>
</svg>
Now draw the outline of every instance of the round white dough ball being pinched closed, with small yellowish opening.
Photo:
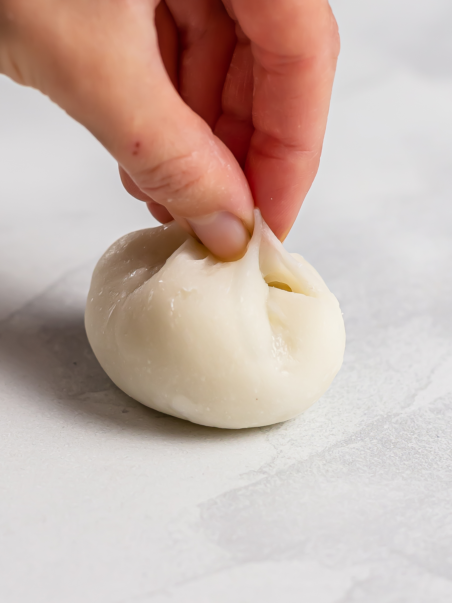
<svg viewBox="0 0 452 603">
<path fill-rule="evenodd" d="M 336 297 L 259 210 L 236 262 L 216 259 L 175 222 L 123 236 L 96 265 L 85 324 L 121 390 L 221 428 L 295 417 L 327 390 L 344 357 Z"/>
</svg>

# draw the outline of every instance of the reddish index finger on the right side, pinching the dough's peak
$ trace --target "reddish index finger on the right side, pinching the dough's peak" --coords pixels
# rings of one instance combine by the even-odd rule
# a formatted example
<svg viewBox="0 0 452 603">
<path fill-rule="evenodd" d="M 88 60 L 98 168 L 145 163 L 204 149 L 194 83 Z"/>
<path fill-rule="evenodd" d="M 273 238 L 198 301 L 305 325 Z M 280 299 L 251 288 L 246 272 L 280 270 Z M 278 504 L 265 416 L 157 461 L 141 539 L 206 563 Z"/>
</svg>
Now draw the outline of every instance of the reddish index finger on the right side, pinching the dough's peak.
<svg viewBox="0 0 452 603">
<path fill-rule="evenodd" d="M 254 134 L 245 174 L 283 240 L 316 175 L 339 54 L 327 0 L 232 0 L 254 57 Z"/>
</svg>

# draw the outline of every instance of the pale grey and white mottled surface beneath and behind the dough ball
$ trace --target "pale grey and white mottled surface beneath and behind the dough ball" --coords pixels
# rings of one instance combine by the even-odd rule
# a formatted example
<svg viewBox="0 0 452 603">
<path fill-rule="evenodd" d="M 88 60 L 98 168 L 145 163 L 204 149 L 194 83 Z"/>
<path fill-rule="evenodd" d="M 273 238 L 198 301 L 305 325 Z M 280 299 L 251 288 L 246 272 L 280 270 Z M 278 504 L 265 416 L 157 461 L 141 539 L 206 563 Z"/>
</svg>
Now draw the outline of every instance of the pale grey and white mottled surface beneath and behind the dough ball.
<svg viewBox="0 0 452 603">
<path fill-rule="evenodd" d="M 192 425 L 111 384 L 90 273 L 152 218 L 83 128 L 0 78 L 2 601 L 452 601 L 452 7 L 333 8 L 324 155 L 286 247 L 339 298 L 347 350 L 268 428 Z"/>
</svg>

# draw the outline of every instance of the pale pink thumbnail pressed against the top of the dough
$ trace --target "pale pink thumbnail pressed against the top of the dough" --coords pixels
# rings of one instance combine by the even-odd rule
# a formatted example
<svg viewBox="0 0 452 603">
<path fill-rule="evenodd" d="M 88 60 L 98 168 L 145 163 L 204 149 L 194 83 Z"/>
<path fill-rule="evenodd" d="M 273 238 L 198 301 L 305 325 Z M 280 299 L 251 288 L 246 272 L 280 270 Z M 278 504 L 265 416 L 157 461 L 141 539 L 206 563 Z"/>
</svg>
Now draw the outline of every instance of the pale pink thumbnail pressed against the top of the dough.
<svg viewBox="0 0 452 603">
<path fill-rule="evenodd" d="M 195 235 L 212 253 L 225 261 L 237 260 L 246 251 L 250 233 L 240 218 L 229 212 L 210 213 L 202 218 L 187 218 Z"/>
</svg>

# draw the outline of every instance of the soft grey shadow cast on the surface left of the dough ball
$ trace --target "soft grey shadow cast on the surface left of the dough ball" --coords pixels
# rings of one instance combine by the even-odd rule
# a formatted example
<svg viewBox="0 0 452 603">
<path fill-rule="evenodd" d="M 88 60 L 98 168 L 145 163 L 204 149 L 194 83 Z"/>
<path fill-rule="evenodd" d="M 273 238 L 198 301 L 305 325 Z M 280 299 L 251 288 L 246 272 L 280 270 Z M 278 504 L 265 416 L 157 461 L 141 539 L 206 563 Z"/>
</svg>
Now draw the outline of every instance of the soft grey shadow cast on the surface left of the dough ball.
<svg viewBox="0 0 452 603">
<path fill-rule="evenodd" d="M 236 440 L 256 429 L 196 425 L 127 396 L 97 361 L 84 328 L 90 268 L 66 274 L 0 322 L 0 372 L 11 397 L 93 415 L 99 427 L 180 440 Z"/>
</svg>

